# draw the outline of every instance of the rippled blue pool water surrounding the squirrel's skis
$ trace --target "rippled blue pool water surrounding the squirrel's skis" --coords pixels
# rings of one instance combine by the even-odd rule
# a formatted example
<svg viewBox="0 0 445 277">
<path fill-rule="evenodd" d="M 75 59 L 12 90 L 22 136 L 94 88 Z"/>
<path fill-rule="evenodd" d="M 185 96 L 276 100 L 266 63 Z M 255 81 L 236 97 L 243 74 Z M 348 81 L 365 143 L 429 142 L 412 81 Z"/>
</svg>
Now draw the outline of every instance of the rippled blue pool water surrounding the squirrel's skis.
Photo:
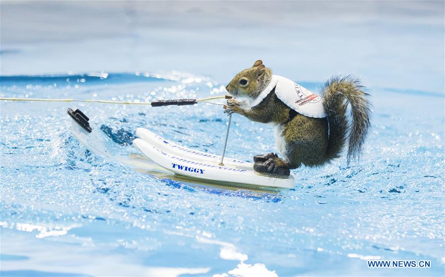
<svg viewBox="0 0 445 277">
<path fill-rule="evenodd" d="M 221 95 L 225 85 L 181 72 L 0 81 L 2 97 L 122 101 Z M 279 193 L 139 173 L 70 134 L 73 104 L 2 101 L 1 276 L 443 276 L 444 95 L 370 93 L 362 158 L 294 170 L 295 188 Z M 139 153 L 137 127 L 222 151 L 221 106 L 74 105 L 120 154 Z M 227 156 L 270 151 L 271 127 L 233 116 Z M 370 269 L 366 260 L 429 260 L 431 268 Z"/>
</svg>

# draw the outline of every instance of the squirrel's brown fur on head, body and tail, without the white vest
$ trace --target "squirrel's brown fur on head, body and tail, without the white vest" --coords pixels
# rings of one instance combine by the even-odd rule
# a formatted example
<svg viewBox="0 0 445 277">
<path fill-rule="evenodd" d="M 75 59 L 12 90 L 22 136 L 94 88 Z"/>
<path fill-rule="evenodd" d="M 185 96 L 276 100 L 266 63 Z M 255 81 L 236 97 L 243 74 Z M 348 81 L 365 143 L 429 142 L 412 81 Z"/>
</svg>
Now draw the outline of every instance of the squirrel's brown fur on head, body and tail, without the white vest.
<svg viewBox="0 0 445 277">
<path fill-rule="evenodd" d="M 272 71 L 265 68 L 258 60 L 252 68 L 238 73 L 226 86 L 227 91 L 235 96 L 255 98 L 268 85 Z M 248 79 L 247 85 L 242 85 L 240 79 Z M 349 137 L 348 162 L 357 157 L 361 151 L 364 139 L 370 127 L 371 104 L 362 92 L 358 80 L 350 77 L 333 79 L 326 82 L 323 88 L 323 106 L 327 118 L 316 119 L 297 114 L 289 121 L 290 108 L 274 93 L 252 109 L 242 106 L 242 102 L 228 100 L 225 112 L 237 113 L 253 121 L 283 125 L 285 153 L 287 160 L 274 158 L 278 166 L 298 168 L 301 164 L 320 166 L 340 157 L 346 140 Z M 351 104 L 352 124 L 347 115 L 348 100 Z"/>
</svg>

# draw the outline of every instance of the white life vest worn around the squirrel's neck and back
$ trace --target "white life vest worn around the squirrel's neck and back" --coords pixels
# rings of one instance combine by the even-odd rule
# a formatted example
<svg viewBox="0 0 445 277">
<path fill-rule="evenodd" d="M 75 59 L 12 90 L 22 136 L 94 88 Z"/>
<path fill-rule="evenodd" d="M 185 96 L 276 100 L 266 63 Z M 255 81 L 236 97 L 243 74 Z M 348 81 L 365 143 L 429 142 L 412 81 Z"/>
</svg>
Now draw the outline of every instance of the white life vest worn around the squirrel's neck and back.
<svg viewBox="0 0 445 277">
<path fill-rule="evenodd" d="M 260 104 L 273 88 L 275 88 L 278 99 L 297 113 L 310 118 L 326 117 L 320 96 L 298 83 L 278 75 L 272 75 L 270 83 L 257 98 L 247 98 L 249 107 L 253 108 Z"/>
</svg>

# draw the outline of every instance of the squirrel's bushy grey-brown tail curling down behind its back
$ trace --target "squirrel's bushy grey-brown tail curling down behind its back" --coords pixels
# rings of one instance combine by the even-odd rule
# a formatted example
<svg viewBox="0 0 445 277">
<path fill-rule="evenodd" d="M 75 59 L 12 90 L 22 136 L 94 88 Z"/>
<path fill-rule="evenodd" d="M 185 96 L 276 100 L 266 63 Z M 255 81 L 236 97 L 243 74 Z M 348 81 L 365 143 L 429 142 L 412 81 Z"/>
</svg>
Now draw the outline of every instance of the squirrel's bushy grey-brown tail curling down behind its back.
<svg viewBox="0 0 445 277">
<path fill-rule="evenodd" d="M 363 92 L 360 80 L 351 76 L 335 76 L 326 81 L 322 89 L 323 106 L 329 122 L 329 144 L 326 158 L 340 157 L 348 142 L 348 164 L 358 158 L 368 134 L 372 104 Z M 345 99 L 347 101 L 345 101 Z M 348 115 L 348 103 L 351 105 Z"/>
</svg>

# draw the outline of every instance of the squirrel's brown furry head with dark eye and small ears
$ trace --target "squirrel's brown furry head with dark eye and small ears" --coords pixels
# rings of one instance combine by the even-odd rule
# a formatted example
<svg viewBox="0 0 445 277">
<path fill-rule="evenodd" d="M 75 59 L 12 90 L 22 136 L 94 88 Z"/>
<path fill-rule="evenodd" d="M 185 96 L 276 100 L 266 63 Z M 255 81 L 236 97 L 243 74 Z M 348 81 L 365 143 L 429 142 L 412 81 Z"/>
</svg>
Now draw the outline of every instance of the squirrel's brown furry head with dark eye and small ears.
<svg viewBox="0 0 445 277">
<path fill-rule="evenodd" d="M 272 70 L 258 60 L 251 68 L 238 73 L 225 89 L 235 97 L 255 98 L 267 87 L 271 78 Z"/>
</svg>

